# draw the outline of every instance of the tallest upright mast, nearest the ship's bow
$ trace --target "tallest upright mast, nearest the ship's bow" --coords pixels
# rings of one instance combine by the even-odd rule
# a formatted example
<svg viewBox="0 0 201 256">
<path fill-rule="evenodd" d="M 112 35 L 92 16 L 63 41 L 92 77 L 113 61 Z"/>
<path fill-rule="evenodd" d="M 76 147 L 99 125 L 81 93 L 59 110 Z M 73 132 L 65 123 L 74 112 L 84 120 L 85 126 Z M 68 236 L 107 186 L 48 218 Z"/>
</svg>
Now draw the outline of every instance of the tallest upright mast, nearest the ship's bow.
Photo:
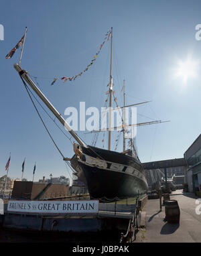
<svg viewBox="0 0 201 256">
<path fill-rule="evenodd" d="M 108 133 L 108 150 L 111 150 L 111 107 L 113 96 L 113 76 L 112 76 L 112 57 L 113 57 L 113 27 L 111 27 L 111 72 L 110 72 L 110 103 L 109 103 L 109 133 Z"/>
</svg>

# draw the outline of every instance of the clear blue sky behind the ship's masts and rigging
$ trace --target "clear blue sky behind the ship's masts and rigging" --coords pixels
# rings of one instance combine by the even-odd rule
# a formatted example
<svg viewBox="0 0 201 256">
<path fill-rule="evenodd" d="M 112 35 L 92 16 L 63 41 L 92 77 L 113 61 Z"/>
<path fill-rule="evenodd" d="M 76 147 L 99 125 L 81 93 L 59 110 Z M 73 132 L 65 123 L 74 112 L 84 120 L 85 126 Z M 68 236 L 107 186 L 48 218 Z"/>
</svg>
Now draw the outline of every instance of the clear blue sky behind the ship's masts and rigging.
<svg viewBox="0 0 201 256">
<path fill-rule="evenodd" d="M 121 87 L 125 79 L 127 105 L 151 101 L 137 107 L 139 123 L 170 120 L 137 128 L 139 159 L 150 162 L 183 157 L 200 135 L 201 41 L 195 38 L 195 27 L 201 23 L 200 9 L 200 0 L 2 0 L 0 176 L 6 174 L 9 152 L 11 178 L 21 178 L 24 158 L 23 178 L 27 180 L 32 180 L 35 162 L 35 181 L 43 176 L 50 178 L 50 174 L 72 176 L 13 68 L 19 61 L 20 50 L 9 60 L 5 59 L 23 36 L 26 26 L 21 67 L 31 78 L 36 77 L 33 80 L 36 79 L 65 119 L 65 109 L 79 109 L 80 102 L 85 102 L 86 108 L 104 107 L 109 83 L 110 40 L 82 76 L 65 83 L 58 79 L 54 86 L 51 86 L 52 80 L 84 70 L 113 27 L 113 82 L 119 106 L 123 105 Z M 189 76 L 184 82 L 184 77 L 176 77 L 176 69 L 188 58 L 196 62 L 192 70 L 195 76 Z M 40 107 L 38 109 L 62 153 L 72 157 L 71 141 Z M 62 131 L 69 137 L 64 128 Z M 78 135 L 87 144 L 92 143 L 92 134 L 78 131 Z M 103 134 L 99 134 L 96 146 L 103 146 L 102 139 Z M 117 133 L 112 135 L 112 150 L 115 139 Z M 121 135 L 117 151 L 122 148 Z"/>
</svg>

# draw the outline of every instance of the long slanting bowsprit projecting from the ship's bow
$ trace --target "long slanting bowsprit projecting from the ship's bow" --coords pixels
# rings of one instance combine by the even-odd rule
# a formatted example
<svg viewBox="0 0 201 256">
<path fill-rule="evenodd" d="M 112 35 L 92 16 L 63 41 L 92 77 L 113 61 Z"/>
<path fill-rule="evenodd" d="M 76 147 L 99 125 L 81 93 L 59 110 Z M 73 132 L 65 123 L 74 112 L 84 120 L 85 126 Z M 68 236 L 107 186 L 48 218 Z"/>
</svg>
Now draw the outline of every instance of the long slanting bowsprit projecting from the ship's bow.
<svg viewBox="0 0 201 256">
<path fill-rule="evenodd" d="M 80 139 L 80 137 L 78 137 L 78 135 L 71 129 L 70 125 L 68 125 L 68 123 L 66 122 L 64 117 L 62 117 L 62 115 L 56 110 L 56 108 L 52 105 L 52 103 L 50 103 L 50 101 L 48 101 L 46 96 L 42 93 L 42 91 L 38 88 L 38 86 L 36 86 L 36 84 L 33 82 L 33 80 L 31 80 L 31 78 L 29 77 L 27 72 L 25 70 L 23 70 L 21 68 L 21 66 L 19 66 L 19 64 L 17 64 L 17 63 L 14 64 L 14 68 L 15 68 L 15 70 L 17 70 L 17 72 L 19 72 L 19 76 L 21 76 L 21 78 L 23 78 L 29 84 L 29 86 L 34 90 L 34 92 L 36 92 L 38 97 L 40 97 L 40 99 L 45 103 L 45 105 L 48 107 L 48 109 L 50 109 L 50 111 L 52 111 L 52 113 L 62 123 L 62 125 L 64 125 L 64 127 L 66 127 L 66 129 L 69 131 L 69 133 L 72 135 L 72 137 L 74 137 L 74 139 L 76 139 L 76 141 L 80 145 L 82 145 L 83 147 L 87 147 L 87 145 L 84 143 L 84 141 L 82 141 L 82 139 Z"/>
</svg>

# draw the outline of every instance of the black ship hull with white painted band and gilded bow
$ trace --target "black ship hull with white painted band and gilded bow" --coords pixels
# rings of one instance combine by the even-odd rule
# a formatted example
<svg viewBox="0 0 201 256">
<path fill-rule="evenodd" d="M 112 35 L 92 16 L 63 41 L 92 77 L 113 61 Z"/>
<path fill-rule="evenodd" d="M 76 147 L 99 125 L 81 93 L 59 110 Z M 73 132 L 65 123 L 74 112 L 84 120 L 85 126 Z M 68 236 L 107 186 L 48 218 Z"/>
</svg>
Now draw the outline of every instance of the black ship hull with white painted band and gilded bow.
<svg viewBox="0 0 201 256">
<path fill-rule="evenodd" d="M 84 174 L 90 198 L 127 198 L 147 190 L 143 167 L 134 157 L 91 146 L 76 145 L 76 150 L 71 164 L 78 176 Z"/>
</svg>

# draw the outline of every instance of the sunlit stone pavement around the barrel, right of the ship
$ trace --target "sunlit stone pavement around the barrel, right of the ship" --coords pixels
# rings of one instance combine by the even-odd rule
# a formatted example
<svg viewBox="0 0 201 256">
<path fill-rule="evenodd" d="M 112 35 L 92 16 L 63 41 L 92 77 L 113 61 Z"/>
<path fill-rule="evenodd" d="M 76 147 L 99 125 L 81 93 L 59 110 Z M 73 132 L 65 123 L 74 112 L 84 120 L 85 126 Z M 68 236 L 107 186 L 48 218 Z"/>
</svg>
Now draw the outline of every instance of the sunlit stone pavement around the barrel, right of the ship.
<svg viewBox="0 0 201 256">
<path fill-rule="evenodd" d="M 159 199 L 151 199 L 145 205 L 145 229 L 140 229 L 134 243 L 201 243 L 201 214 L 196 214 L 196 199 L 192 193 L 176 190 L 170 199 L 178 200 L 180 223 L 164 221 L 165 206 L 159 211 Z M 200 201 L 201 204 L 201 201 Z M 199 208 L 201 212 L 201 207 Z"/>
</svg>

